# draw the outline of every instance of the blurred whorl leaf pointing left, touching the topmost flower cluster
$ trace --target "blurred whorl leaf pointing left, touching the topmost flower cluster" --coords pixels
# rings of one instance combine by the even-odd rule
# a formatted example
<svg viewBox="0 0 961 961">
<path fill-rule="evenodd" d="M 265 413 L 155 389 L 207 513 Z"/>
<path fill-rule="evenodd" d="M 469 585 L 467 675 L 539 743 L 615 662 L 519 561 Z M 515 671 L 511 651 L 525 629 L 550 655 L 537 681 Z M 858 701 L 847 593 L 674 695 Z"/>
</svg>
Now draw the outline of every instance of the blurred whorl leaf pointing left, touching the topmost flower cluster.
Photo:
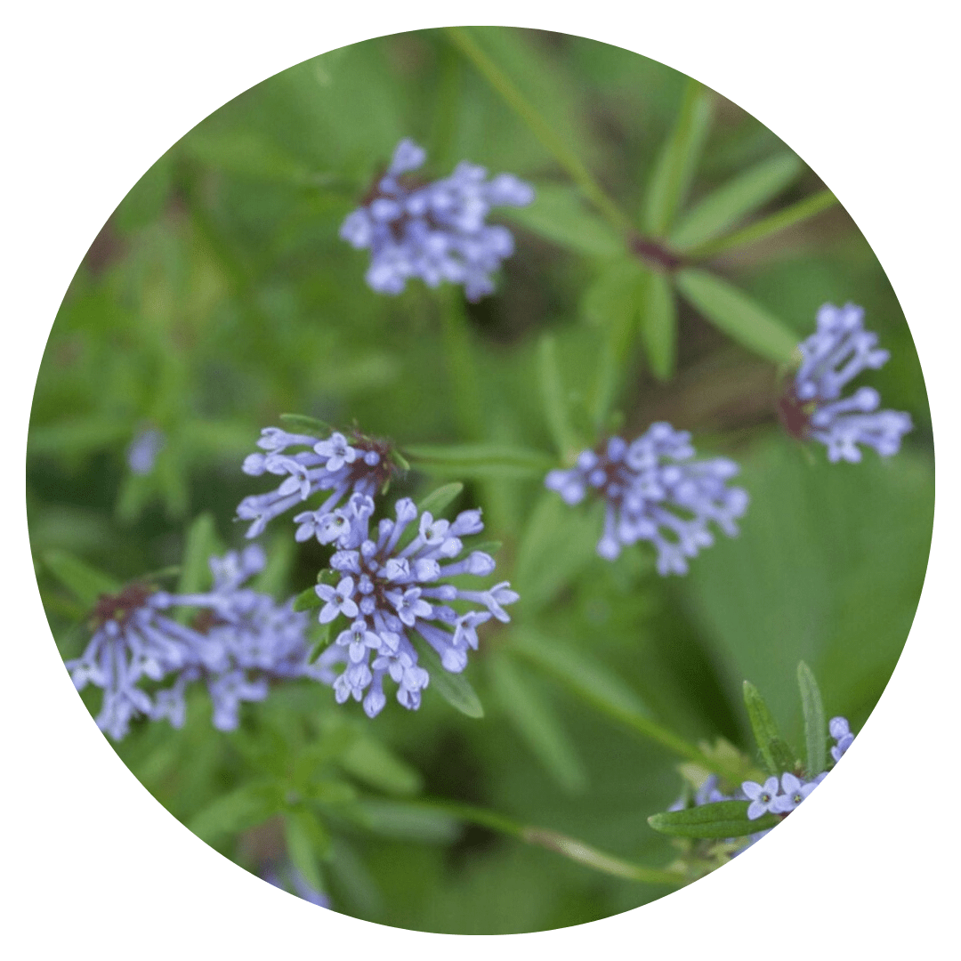
<svg viewBox="0 0 961 961">
<path fill-rule="evenodd" d="M 573 187 L 538 185 L 530 207 L 499 209 L 498 213 L 578 254 L 616 258 L 625 252 L 624 238 L 584 208 Z"/>
</svg>

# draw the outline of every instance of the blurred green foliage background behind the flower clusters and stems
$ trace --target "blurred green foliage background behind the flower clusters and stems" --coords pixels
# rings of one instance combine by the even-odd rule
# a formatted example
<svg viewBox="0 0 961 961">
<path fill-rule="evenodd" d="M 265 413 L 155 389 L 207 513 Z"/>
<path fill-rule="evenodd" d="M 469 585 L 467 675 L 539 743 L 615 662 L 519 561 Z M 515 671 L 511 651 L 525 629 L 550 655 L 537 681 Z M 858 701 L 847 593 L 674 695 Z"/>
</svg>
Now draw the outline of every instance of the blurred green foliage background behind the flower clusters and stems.
<svg viewBox="0 0 961 961">
<path fill-rule="evenodd" d="M 470 36 L 640 222 L 687 79 L 578 37 L 506 28 Z M 684 209 L 787 150 L 735 105 L 709 100 Z M 44 557 L 66 551 L 117 579 L 137 578 L 178 564 L 191 519 L 205 511 L 222 543 L 239 546 L 234 507 L 267 489 L 240 463 L 284 411 L 342 427 L 356 420 L 402 445 L 487 440 L 550 452 L 534 373 L 545 333 L 572 405 L 592 395 L 595 357 L 610 334 L 605 291 L 623 255 L 580 229 L 589 207 L 573 220 L 563 210 L 552 219 L 547 206 L 538 219 L 538 201 L 527 216 L 507 220 L 505 211 L 517 250 L 497 293 L 478 305 L 417 281 L 397 298 L 366 287 L 367 253 L 337 230 L 404 136 L 428 148 L 433 176 L 472 160 L 530 181 L 545 205 L 553 198 L 554 208 L 571 207 L 573 188 L 554 155 L 448 35 L 425 31 L 333 51 L 242 93 L 160 158 L 94 240 L 43 358 L 28 452 L 37 578 L 64 657 L 83 650 L 88 632 Z M 752 216 L 823 189 L 800 165 Z M 629 329 L 615 406 L 628 437 L 670 420 L 694 432 L 699 451 L 743 465 L 752 505 L 739 538 L 719 538 L 687 577 L 660 579 L 641 548 L 616 564 L 598 558 L 596 513 L 562 505 L 539 480 L 466 478 L 456 506 L 483 506 L 485 537 L 504 542 L 498 577 L 522 595 L 511 609 L 516 636 L 514 628 L 481 633 L 467 669 L 486 717 L 463 717 L 429 689 L 421 710 L 390 701 L 370 722 L 358 704 L 335 708 L 331 691 L 304 682 L 249 706 L 241 730 L 222 734 L 198 694 L 184 729 L 141 725 L 116 746 L 160 802 L 196 825 L 198 813 L 251 776 L 259 755 L 289 754 L 294 763 L 320 734 L 347 726 L 383 752 L 359 779 L 388 795 L 489 807 L 667 864 L 676 851 L 646 818 L 678 796 L 678 758 L 514 656 L 525 631 L 600 665 L 650 716 L 691 739 L 720 735 L 752 751 L 740 706 L 749 678 L 801 740 L 801 658 L 820 681 L 828 716 L 845 714 L 859 729 L 910 627 L 931 536 L 931 428 L 911 335 L 870 247 L 838 206 L 702 262 L 798 340 L 826 301 L 862 305 L 866 326 L 891 352 L 864 380 L 915 423 L 899 455 L 828 464 L 821 451 L 801 448 L 777 425 L 776 365 L 680 300 L 676 367 L 655 377 L 656 360 Z M 451 311 L 462 322 L 453 335 Z M 141 476 L 126 452 L 147 427 L 166 442 Z M 420 496 L 438 482 L 415 471 L 392 494 Z M 294 545 L 292 533 L 284 516 L 264 535 L 280 595 L 313 583 L 325 557 L 316 544 Z M 84 697 L 95 710 L 99 695 Z M 387 774 L 377 783 L 379 765 Z M 323 872 L 337 910 L 495 934 L 580 924 L 665 893 L 480 827 L 391 810 L 363 828 L 327 818 L 334 840 Z M 270 823 L 200 833 L 255 872 L 264 846 L 279 844 Z"/>
</svg>

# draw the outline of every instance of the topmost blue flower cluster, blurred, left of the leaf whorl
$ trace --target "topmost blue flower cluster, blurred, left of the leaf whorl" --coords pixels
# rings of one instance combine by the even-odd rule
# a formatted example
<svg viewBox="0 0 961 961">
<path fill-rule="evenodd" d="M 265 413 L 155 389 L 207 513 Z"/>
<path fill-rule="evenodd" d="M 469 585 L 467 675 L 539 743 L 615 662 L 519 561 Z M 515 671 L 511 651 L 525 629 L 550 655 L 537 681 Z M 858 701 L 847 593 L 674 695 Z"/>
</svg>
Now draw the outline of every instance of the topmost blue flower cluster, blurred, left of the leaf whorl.
<svg viewBox="0 0 961 961">
<path fill-rule="evenodd" d="M 450 177 L 419 182 L 410 172 L 426 159 L 422 147 L 402 140 L 340 236 L 357 250 L 370 249 L 366 281 L 378 293 L 398 294 L 408 278 L 419 277 L 431 287 L 462 283 L 468 300 L 480 300 L 494 289 L 489 275 L 514 252 L 510 232 L 484 219 L 492 207 L 527 206 L 533 188 L 511 174 L 488 182 L 483 167 L 466 161 Z"/>
</svg>

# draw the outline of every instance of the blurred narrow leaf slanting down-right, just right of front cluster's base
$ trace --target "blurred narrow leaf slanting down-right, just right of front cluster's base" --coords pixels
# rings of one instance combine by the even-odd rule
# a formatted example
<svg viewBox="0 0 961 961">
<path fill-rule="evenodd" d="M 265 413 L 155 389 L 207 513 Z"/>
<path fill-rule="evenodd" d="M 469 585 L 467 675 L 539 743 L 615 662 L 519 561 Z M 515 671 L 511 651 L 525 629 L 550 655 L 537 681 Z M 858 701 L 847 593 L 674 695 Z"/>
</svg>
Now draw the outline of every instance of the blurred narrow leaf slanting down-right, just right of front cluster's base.
<svg viewBox="0 0 961 961">
<path fill-rule="evenodd" d="M 536 664 L 585 701 L 603 707 L 608 713 L 624 718 L 649 717 L 644 702 L 621 678 L 589 655 L 566 644 L 549 639 L 530 628 L 514 628 L 511 632 L 510 652 Z"/>
</svg>

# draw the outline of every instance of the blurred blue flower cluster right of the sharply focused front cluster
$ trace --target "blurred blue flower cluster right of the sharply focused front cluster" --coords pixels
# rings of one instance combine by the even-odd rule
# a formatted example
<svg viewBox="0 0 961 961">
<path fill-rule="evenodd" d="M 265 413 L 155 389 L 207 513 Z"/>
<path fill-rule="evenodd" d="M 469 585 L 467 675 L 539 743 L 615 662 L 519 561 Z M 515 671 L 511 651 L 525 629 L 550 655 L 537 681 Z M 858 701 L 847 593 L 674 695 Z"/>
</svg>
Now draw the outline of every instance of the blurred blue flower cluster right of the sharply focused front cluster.
<svg viewBox="0 0 961 961">
<path fill-rule="evenodd" d="M 670 424 L 652 424 L 628 443 L 611 437 L 598 450 L 583 451 L 570 470 L 551 471 L 545 485 L 568 504 L 588 492 L 604 499 L 604 534 L 598 554 L 614 560 L 640 540 L 657 549 L 661 575 L 686 574 L 687 559 L 714 542 L 713 522 L 728 537 L 748 508 L 741 487 L 727 487 L 738 465 L 725 457 L 694 460 L 691 435 Z"/>
</svg>

